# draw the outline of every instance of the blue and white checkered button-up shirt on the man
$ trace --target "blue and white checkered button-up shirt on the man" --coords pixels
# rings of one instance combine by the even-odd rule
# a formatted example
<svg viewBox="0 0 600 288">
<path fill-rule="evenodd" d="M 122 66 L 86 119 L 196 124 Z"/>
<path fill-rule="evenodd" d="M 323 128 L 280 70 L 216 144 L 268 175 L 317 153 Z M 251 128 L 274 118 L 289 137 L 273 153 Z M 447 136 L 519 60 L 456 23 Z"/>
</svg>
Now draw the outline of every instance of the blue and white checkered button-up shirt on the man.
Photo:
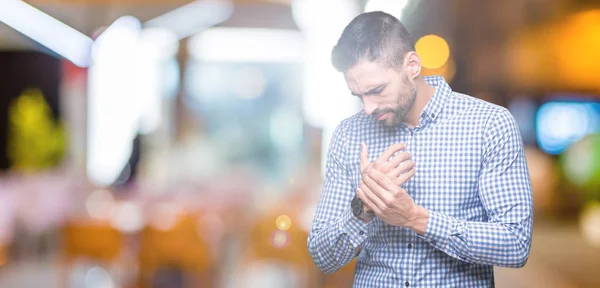
<svg viewBox="0 0 600 288">
<path fill-rule="evenodd" d="M 361 111 L 333 134 L 308 250 L 325 273 L 358 257 L 354 287 L 494 287 L 493 266 L 522 267 L 529 256 L 533 200 L 515 119 L 439 76 L 425 81 L 436 92 L 418 126 L 385 128 Z M 424 235 L 353 216 L 361 142 L 370 161 L 407 144 L 416 174 L 403 188 L 429 212 Z"/>
</svg>

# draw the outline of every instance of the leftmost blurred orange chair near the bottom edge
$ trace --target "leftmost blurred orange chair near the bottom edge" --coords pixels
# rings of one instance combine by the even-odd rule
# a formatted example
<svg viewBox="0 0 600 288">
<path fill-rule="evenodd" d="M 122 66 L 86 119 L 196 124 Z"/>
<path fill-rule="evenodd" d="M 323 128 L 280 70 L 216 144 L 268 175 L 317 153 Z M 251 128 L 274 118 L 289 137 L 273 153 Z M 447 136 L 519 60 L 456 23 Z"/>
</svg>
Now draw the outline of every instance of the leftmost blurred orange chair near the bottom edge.
<svg viewBox="0 0 600 288">
<path fill-rule="evenodd" d="M 59 287 L 67 287 L 75 260 L 87 259 L 105 267 L 116 263 L 125 246 L 125 236 L 108 222 L 71 221 L 62 228 Z"/>
</svg>

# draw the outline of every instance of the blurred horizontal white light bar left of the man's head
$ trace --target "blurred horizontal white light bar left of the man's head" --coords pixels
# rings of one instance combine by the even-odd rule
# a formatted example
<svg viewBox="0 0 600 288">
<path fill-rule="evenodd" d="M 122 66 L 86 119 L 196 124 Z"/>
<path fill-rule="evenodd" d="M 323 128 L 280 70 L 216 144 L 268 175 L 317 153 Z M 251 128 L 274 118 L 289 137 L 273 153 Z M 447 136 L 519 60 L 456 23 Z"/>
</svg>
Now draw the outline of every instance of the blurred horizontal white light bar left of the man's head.
<svg viewBox="0 0 600 288">
<path fill-rule="evenodd" d="M 300 32 L 263 28 L 211 28 L 188 42 L 190 55 L 209 62 L 302 62 Z"/>
</svg>

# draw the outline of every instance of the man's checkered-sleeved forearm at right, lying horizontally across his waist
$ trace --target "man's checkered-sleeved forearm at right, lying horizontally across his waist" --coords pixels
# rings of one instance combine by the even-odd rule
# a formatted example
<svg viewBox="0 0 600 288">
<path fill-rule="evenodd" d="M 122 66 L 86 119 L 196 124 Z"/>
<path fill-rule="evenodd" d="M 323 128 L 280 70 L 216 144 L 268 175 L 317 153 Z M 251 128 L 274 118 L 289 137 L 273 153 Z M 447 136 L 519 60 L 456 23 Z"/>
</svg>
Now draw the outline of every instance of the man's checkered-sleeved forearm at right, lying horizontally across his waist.
<svg viewBox="0 0 600 288">
<path fill-rule="evenodd" d="M 520 268 L 529 257 L 531 219 L 523 223 L 465 221 L 428 210 L 422 238 L 465 262 Z"/>
</svg>

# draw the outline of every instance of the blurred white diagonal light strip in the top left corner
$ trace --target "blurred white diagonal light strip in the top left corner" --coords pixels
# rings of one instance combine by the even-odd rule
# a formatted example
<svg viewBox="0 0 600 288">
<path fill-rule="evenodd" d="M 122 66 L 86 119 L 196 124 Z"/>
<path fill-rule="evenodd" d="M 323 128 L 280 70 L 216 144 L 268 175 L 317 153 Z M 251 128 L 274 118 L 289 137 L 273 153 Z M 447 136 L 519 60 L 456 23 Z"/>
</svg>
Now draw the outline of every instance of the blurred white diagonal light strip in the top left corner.
<svg viewBox="0 0 600 288">
<path fill-rule="evenodd" d="M 90 37 L 23 1 L 0 0 L 0 6 L 0 22 L 79 67 L 89 65 L 93 45 Z"/>
</svg>

